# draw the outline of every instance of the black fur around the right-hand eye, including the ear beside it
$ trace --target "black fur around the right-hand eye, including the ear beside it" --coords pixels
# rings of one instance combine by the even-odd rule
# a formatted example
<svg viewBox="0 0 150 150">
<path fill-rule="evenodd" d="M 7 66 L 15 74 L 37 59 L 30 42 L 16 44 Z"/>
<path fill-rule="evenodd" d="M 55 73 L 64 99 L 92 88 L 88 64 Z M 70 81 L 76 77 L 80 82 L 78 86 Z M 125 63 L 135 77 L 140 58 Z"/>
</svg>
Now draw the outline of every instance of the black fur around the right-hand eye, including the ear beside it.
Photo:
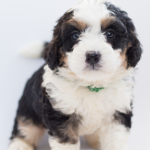
<svg viewBox="0 0 150 150">
<path fill-rule="evenodd" d="M 111 15 L 116 18 L 116 21 L 105 29 L 105 31 L 113 30 L 116 34 L 116 37 L 114 39 L 108 39 L 108 42 L 114 49 L 121 48 L 124 50 L 127 48 L 127 67 L 135 67 L 142 54 L 142 48 L 137 38 L 135 26 L 125 11 L 110 3 L 106 3 L 106 6 L 110 13 L 112 12 Z"/>
</svg>

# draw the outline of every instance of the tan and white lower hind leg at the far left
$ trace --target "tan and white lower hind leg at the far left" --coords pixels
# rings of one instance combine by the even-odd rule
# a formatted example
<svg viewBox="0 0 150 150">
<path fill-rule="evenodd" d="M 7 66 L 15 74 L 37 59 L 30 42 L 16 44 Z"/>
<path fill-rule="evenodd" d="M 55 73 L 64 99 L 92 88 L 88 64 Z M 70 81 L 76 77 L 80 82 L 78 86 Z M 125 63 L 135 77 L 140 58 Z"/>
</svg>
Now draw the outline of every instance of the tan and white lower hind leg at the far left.
<svg viewBox="0 0 150 150">
<path fill-rule="evenodd" d="M 15 121 L 9 150 L 34 150 L 45 129 L 31 120 L 18 118 Z"/>
</svg>

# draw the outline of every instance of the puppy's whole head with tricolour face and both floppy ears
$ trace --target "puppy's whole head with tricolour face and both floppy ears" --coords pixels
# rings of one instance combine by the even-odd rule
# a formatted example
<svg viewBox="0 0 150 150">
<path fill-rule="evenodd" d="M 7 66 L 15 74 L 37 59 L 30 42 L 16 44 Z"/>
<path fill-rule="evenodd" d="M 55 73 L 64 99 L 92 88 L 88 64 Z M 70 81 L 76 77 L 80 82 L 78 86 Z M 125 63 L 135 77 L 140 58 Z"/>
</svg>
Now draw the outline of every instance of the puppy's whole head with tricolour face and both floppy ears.
<svg viewBox="0 0 150 150">
<path fill-rule="evenodd" d="M 64 67 L 78 78 L 100 81 L 135 67 L 141 57 L 127 13 L 102 0 L 83 0 L 58 21 L 44 58 L 52 70 Z"/>
</svg>

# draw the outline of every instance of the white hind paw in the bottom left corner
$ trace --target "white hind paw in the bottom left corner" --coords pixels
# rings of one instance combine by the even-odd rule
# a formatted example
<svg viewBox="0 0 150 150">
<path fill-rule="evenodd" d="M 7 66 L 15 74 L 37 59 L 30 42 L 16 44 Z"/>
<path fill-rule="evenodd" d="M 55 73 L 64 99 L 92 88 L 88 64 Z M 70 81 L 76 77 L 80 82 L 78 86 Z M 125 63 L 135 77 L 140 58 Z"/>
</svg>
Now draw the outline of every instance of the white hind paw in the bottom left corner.
<svg viewBox="0 0 150 150">
<path fill-rule="evenodd" d="M 8 150 L 34 150 L 32 146 L 28 145 L 26 142 L 20 139 L 14 139 L 10 145 Z"/>
</svg>

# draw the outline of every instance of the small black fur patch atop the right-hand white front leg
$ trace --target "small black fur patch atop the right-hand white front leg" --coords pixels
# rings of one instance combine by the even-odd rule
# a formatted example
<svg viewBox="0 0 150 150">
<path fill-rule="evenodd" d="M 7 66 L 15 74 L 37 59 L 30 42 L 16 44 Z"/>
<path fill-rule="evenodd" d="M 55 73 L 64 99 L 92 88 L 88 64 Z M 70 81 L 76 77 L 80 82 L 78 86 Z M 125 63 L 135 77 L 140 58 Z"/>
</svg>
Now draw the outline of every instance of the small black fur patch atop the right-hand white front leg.
<svg viewBox="0 0 150 150">
<path fill-rule="evenodd" d="M 125 127 L 130 129 L 132 125 L 131 122 L 132 116 L 133 114 L 131 111 L 128 111 L 127 113 L 121 113 L 119 111 L 116 111 L 116 113 L 114 114 L 114 119 L 118 121 L 120 124 L 123 124 Z"/>
</svg>

